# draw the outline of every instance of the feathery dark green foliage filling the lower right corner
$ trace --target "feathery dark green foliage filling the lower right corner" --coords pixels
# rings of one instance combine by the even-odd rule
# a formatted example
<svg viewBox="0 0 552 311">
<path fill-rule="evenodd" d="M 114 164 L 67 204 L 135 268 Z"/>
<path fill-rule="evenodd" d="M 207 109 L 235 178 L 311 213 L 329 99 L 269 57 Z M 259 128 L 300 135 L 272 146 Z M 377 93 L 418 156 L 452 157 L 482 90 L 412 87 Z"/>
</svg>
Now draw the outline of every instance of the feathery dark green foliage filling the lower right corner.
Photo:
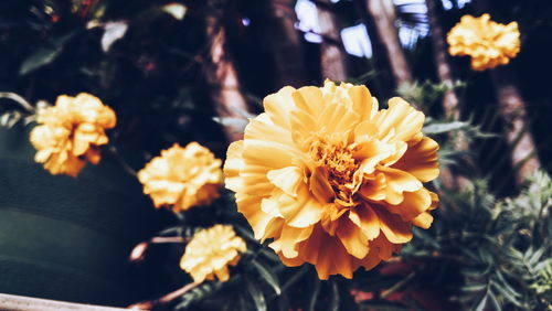
<svg viewBox="0 0 552 311">
<path fill-rule="evenodd" d="M 432 258 L 432 270 L 457 269 L 461 282 L 448 286 L 465 308 L 550 308 L 551 189 L 550 176 L 537 172 L 513 199 L 497 200 L 485 180 L 467 192 L 446 193 L 438 222 L 429 233 L 416 230 L 401 256 Z"/>
</svg>

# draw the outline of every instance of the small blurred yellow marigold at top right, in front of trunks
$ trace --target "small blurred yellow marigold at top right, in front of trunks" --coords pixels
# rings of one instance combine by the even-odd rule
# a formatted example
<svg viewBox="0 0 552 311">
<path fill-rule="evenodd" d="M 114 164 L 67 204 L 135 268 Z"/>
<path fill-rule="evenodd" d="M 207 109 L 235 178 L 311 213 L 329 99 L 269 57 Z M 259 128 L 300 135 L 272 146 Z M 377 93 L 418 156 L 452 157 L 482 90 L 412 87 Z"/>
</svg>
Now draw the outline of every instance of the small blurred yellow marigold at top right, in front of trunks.
<svg viewBox="0 0 552 311">
<path fill-rule="evenodd" d="M 508 64 L 519 53 L 519 36 L 517 22 L 505 25 L 491 21 L 489 14 L 464 15 L 448 32 L 448 52 L 471 56 L 471 68 L 484 71 Z"/>
</svg>

